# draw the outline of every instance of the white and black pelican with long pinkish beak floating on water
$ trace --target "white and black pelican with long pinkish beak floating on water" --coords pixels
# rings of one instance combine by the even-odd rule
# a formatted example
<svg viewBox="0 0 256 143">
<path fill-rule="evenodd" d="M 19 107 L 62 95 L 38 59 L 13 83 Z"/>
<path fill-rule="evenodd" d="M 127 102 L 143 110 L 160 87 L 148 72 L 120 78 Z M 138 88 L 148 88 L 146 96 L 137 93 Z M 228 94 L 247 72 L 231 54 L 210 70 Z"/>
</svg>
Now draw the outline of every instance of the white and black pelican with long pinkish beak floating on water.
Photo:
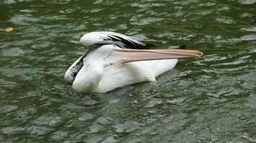
<svg viewBox="0 0 256 143">
<path fill-rule="evenodd" d="M 65 72 L 76 92 L 104 93 L 155 78 L 173 69 L 178 59 L 201 56 L 188 49 L 150 49 L 146 44 L 112 31 L 94 31 L 80 39 L 91 49 Z"/>
</svg>

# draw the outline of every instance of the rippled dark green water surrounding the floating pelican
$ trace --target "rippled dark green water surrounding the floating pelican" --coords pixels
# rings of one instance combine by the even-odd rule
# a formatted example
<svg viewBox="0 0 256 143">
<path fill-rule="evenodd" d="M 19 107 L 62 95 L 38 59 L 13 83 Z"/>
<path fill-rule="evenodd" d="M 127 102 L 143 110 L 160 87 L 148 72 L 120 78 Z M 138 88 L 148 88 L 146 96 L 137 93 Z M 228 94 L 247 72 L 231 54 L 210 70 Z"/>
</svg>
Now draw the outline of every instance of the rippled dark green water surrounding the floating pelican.
<svg viewBox="0 0 256 143">
<path fill-rule="evenodd" d="M 0 142 L 256 142 L 255 0 L 1 0 L 0 12 Z M 204 57 L 78 94 L 63 74 L 88 31 Z"/>
</svg>

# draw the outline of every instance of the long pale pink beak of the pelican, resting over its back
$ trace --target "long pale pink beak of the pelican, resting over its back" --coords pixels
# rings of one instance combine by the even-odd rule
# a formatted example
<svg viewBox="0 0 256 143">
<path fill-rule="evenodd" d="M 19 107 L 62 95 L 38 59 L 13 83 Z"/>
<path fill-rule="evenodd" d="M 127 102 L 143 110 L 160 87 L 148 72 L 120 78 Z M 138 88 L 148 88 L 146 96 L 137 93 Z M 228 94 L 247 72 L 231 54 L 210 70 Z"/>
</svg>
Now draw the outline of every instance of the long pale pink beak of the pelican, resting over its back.
<svg viewBox="0 0 256 143">
<path fill-rule="evenodd" d="M 187 59 L 202 56 L 201 51 L 189 49 L 119 49 L 114 50 L 106 57 L 109 64 L 128 63 L 132 61 L 148 61 L 159 59 Z"/>
</svg>

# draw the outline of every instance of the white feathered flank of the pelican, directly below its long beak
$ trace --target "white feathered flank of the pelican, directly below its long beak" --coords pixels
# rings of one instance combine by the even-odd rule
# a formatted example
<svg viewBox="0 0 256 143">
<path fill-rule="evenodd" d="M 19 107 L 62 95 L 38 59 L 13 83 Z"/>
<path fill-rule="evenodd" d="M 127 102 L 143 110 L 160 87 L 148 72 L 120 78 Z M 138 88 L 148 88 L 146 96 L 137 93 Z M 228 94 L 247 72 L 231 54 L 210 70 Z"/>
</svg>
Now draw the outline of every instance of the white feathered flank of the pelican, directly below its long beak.
<svg viewBox="0 0 256 143">
<path fill-rule="evenodd" d="M 94 92 L 109 92 L 139 82 L 154 82 L 160 74 L 173 69 L 178 59 L 135 61 L 106 67 Z"/>
</svg>

